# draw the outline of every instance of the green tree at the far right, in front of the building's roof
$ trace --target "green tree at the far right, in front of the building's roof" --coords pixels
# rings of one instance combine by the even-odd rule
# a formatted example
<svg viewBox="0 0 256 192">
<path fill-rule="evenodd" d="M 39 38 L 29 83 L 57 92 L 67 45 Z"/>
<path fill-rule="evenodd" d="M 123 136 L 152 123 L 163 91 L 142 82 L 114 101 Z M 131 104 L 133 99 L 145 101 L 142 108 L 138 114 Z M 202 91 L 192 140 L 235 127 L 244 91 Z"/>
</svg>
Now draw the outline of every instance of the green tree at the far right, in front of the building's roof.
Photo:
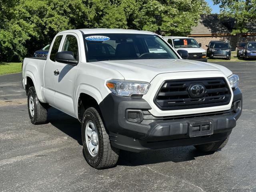
<svg viewBox="0 0 256 192">
<path fill-rule="evenodd" d="M 220 4 L 220 18 L 234 18 L 236 24 L 231 34 L 249 32 L 248 23 L 256 19 L 256 0 L 213 0 Z"/>
</svg>

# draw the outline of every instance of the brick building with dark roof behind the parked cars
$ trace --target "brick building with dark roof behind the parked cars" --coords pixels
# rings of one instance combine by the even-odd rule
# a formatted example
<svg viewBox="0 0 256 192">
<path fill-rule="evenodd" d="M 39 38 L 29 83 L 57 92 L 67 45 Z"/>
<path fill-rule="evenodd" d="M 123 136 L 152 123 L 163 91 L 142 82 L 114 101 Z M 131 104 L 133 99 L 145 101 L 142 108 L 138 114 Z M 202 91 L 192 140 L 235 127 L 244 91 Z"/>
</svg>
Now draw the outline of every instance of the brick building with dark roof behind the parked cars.
<svg viewBox="0 0 256 192">
<path fill-rule="evenodd" d="M 192 27 L 189 37 L 196 39 L 198 43 L 202 43 L 202 48 L 206 49 L 206 45 L 211 40 L 221 40 L 229 42 L 234 50 L 237 42 L 243 39 L 249 41 L 256 40 L 256 24 L 248 24 L 249 32 L 247 34 L 231 35 L 235 25 L 234 19 L 220 20 L 217 14 L 201 15 L 198 26 Z"/>
</svg>

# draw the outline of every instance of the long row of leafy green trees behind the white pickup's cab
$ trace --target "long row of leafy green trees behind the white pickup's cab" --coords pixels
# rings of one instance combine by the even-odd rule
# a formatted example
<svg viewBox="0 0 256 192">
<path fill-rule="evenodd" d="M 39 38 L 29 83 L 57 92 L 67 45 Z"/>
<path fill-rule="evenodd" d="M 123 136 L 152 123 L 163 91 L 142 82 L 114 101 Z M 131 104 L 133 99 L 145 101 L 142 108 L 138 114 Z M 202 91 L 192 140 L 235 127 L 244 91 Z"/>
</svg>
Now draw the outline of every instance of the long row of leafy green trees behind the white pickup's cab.
<svg viewBox="0 0 256 192">
<path fill-rule="evenodd" d="M 0 56 L 22 60 L 75 28 L 186 35 L 210 11 L 204 0 L 0 0 Z"/>
</svg>

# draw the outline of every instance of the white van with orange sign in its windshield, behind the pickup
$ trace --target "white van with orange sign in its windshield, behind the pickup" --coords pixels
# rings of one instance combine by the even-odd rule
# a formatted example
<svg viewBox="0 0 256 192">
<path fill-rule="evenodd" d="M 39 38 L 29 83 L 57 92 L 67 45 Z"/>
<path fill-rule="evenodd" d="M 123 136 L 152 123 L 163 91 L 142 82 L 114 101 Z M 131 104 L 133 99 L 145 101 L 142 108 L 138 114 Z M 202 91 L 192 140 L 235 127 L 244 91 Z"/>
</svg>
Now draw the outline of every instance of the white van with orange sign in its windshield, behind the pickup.
<svg viewBox="0 0 256 192">
<path fill-rule="evenodd" d="M 164 39 L 176 50 L 188 51 L 188 59 L 207 62 L 206 50 L 194 38 L 166 36 Z"/>
</svg>

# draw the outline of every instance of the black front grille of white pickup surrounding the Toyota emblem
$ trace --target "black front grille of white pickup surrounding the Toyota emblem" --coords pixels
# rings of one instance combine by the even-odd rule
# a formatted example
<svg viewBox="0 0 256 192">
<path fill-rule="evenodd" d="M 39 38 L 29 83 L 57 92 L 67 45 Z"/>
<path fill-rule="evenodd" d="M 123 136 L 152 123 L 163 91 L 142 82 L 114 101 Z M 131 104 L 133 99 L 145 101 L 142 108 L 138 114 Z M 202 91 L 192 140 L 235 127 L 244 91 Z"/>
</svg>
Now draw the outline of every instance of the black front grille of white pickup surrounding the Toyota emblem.
<svg viewBox="0 0 256 192">
<path fill-rule="evenodd" d="M 206 91 L 200 98 L 192 98 L 192 84 L 204 85 Z M 161 110 L 179 110 L 226 105 L 231 93 L 224 78 L 199 78 L 188 80 L 166 80 L 158 90 L 154 103 Z"/>
</svg>

